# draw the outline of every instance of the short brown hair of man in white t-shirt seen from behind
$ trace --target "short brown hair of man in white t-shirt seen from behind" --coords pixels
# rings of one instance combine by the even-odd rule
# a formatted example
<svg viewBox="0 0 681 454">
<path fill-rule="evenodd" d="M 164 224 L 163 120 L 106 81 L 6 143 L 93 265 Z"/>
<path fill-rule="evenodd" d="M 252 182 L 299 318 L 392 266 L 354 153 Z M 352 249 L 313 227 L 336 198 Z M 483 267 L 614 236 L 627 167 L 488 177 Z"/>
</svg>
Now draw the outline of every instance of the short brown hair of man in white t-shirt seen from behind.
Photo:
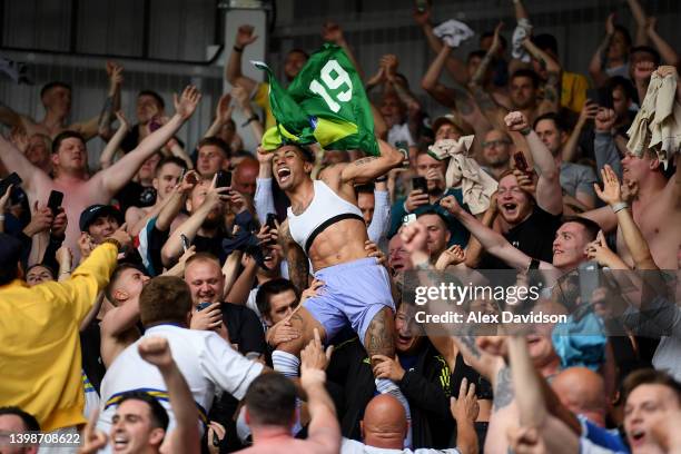
<svg viewBox="0 0 681 454">
<path fill-rule="evenodd" d="M 145 327 L 159 323 L 186 323 L 191 310 L 191 292 L 179 277 L 158 276 L 139 295 L 139 318 Z"/>
</svg>

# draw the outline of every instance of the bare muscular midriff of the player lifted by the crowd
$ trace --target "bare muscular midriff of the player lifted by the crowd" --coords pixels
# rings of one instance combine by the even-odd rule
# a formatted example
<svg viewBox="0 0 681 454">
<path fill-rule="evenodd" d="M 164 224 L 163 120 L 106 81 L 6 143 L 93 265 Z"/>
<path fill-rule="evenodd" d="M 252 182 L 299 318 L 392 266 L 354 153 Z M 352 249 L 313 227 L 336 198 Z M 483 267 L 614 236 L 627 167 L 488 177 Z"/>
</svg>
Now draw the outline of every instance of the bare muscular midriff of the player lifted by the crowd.
<svg viewBox="0 0 681 454">
<path fill-rule="evenodd" d="M 366 258 L 367 239 L 366 225 L 359 219 L 343 219 L 326 227 L 309 248 L 314 270 Z"/>
</svg>

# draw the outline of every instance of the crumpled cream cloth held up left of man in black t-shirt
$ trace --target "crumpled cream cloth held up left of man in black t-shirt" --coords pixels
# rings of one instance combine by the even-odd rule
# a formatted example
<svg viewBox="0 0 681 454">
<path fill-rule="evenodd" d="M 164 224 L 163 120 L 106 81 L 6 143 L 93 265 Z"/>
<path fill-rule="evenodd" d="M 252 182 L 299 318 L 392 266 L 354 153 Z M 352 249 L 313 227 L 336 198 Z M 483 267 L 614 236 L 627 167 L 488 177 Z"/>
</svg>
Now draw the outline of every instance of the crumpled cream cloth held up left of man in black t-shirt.
<svg viewBox="0 0 681 454">
<path fill-rule="evenodd" d="M 464 203 L 473 215 L 478 215 L 490 207 L 490 198 L 496 193 L 497 182 L 475 159 L 466 156 L 473 139 L 474 136 L 464 136 L 458 140 L 437 140 L 428 147 L 428 155 L 437 160 L 450 158 L 445 174 L 447 187 L 461 185 Z"/>
</svg>

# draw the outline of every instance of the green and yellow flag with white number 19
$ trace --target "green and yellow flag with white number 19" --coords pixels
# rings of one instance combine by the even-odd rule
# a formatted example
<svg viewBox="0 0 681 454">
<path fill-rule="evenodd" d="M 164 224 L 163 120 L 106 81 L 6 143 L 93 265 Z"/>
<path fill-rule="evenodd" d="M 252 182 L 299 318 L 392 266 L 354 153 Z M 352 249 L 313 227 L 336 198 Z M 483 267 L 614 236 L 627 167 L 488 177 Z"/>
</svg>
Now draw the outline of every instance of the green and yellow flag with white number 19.
<svg viewBox="0 0 681 454">
<path fill-rule="evenodd" d="M 324 149 L 379 154 L 364 85 L 338 46 L 327 43 L 313 53 L 287 90 L 265 63 L 253 63 L 267 72 L 277 120 L 263 136 L 263 148 L 318 142 Z"/>
</svg>

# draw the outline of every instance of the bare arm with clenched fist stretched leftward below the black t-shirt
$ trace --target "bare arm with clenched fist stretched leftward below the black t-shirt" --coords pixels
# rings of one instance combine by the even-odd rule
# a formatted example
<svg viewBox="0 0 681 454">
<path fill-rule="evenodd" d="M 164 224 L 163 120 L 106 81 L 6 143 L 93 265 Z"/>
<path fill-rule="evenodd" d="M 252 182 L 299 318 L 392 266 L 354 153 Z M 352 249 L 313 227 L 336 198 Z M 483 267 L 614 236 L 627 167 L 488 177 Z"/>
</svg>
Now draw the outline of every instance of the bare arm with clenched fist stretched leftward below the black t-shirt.
<svg viewBox="0 0 681 454">
<path fill-rule="evenodd" d="M 490 254 L 515 269 L 525 270 L 530 268 L 532 258 L 529 255 L 513 247 L 501 234 L 485 227 L 475 216 L 463 209 L 454 196 L 443 198 L 440 200 L 440 205 L 458 219 Z M 553 266 L 541 261 L 540 269 L 553 269 Z"/>
</svg>

